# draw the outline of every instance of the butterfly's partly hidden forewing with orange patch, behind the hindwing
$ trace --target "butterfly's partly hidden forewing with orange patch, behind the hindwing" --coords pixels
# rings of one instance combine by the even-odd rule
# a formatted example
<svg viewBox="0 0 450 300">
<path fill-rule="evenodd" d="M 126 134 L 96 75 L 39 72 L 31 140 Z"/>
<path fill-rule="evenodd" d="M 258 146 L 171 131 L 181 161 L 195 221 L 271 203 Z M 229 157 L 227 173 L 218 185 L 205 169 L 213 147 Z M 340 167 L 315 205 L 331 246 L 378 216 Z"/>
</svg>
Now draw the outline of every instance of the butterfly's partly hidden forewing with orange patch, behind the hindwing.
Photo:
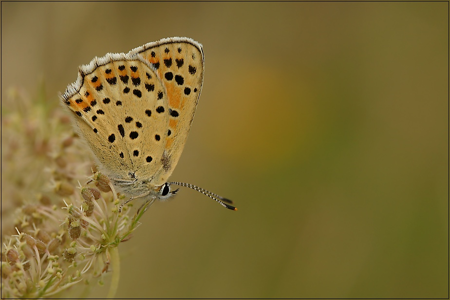
<svg viewBox="0 0 450 300">
<path fill-rule="evenodd" d="M 165 38 L 130 51 L 153 64 L 167 91 L 169 126 L 155 184 L 164 184 L 180 158 L 200 97 L 204 74 L 202 45 L 190 38 Z"/>
</svg>

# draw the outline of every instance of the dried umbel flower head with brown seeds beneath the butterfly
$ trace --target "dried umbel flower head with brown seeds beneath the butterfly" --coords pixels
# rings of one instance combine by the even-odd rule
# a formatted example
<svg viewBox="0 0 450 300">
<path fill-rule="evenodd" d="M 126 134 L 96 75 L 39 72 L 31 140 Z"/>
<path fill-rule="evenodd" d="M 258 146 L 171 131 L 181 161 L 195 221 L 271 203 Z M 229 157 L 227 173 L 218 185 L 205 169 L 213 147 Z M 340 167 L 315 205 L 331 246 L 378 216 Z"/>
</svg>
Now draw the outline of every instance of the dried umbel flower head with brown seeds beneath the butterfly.
<svg viewBox="0 0 450 300">
<path fill-rule="evenodd" d="M 9 100 L 1 119 L 1 297 L 64 297 L 74 285 L 84 291 L 103 284 L 109 272 L 113 297 L 117 246 L 145 209 L 119 213 L 122 197 L 92 170 L 67 117 L 45 97 L 29 101 L 12 91 Z"/>
</svg>

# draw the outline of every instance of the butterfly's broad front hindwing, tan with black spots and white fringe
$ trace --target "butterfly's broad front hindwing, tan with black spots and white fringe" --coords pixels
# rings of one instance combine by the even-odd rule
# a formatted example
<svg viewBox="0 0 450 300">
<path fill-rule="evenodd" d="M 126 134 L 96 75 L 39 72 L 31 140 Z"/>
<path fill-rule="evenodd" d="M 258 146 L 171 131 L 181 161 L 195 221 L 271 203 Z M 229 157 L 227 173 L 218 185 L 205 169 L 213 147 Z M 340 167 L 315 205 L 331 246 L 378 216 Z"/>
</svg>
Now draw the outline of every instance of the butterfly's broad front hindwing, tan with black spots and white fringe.
<svg viewBox="0 0 450 300">
<path fill-rule="evenodd" d="M 168 98 L 139 55 L 107 54 L 80 67 L 61 96 L 75 127 L 110 178 L 148 179 L 160 168 L 168 135 Z M 149 175 L 150 174 L 150 175 Z"/>
</svg>

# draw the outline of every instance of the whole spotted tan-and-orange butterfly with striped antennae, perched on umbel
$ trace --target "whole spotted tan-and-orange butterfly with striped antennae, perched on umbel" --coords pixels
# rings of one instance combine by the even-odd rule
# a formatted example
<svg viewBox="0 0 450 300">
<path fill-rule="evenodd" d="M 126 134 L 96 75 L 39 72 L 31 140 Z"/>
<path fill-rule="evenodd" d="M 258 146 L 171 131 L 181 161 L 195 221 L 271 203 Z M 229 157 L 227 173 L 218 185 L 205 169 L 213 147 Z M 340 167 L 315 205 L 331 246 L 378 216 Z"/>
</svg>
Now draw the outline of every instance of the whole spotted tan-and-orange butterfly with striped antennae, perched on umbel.
<svg viewBox="0 0 450 300">
<path fill-rule="evenodd" d="M 100 170 L 131 197 L 125 203 L 168 199 L 177 185 L 237 210 L 203 188 L 168 182 L 187 140 L 203 75 L 200 43 L 164 38 L 128 53 L 94 57 L 79 67 L 77 80 L 61 95 Z"/>
</svg>

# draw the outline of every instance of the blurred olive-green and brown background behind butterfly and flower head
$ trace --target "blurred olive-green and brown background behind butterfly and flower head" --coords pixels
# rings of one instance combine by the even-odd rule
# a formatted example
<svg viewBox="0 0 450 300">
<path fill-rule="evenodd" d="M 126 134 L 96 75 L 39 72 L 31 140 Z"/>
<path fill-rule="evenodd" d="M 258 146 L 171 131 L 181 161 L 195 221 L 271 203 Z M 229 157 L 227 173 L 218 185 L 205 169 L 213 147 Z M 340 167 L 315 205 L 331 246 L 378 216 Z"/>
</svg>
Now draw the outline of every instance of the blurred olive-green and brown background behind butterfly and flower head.
<svg viewBox="0 0 450 300">
<path fill-rule="evenodd" d="M 117 297 L 449 297 L 448 2 L 2 2 L 2 99 L 172 36 L 205 81 L 171 179 L 239 210 L 152 206 Z"/>
</svg>

